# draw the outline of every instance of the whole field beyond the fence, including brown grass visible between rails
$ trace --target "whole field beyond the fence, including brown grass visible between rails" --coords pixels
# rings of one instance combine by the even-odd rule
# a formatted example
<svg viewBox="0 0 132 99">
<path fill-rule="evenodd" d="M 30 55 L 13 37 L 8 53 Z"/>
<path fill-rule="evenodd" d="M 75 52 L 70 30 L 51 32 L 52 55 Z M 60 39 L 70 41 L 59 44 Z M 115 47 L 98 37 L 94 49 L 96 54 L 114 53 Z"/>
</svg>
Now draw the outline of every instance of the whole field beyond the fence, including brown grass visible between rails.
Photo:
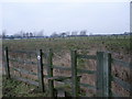
<svg viewBox="0 0 132 99">
<path fill-rule="evenodd" d="M 70 50 L 77 50 L 78 53 L 95 55 L 97 52 L 110 52 L 112 57 L 122 59 L 124 62 L 131 63 L 132 55 L 132 45 L 130 41 L 130 36 L 74 36 L 74 37 L 57 37 L 57 38 L 29 38 L 29 40 L 3 40 L 3 47 L 8 46 L 9 50 L 12 51 L 37 51 L 43 50 L 46 51 L 48 48 L 53 48 L 54 57 L 53 64 L 61 66 L 70 66 Z M 13 55 L 13 54 L 12 54 Z M 18 55 L 13 55 L 18 57 Z M 20 58 L 29 59 L 29 57 L 19 56 Z M 30 59 L 34 61 L 34 58 Z M 13 66 L 14 64 L 11 63 Z M 16 64 L 18 66 L 24 67 L 22 65 Z M 87 59 L 78 59 L 78 67 L 86 68 L 90 70 L 96 69 L 96 63 L 94 61 Z M 28 68 L 28 67 L 26 67 Z M 31 69 L 29 67 L 29 69 Z M 35 72 L 35 68 L 32 68 Z M 130 76 L 127 76 L 128 69 L 124 68 L 112 68 L 113 75 L 118 75 L 118 77 L 122 78 L 125 81 L 131 82 Z M 124 70 L 127 73 L 124 73 Z M 69 72 L 61 72 L 55 70 L 55 75 L 69 75 Z M 122 75 L 124 74 L 124 76 Z M 95 85 L 95 76 L 91 75 L 82 75 L 82 82 L 88 82 Z M 119 87 L 114 87 L 116 90 L 121 91 Z M 120 89 L 120 90 L 119 90 Z M 84 91 L 84 90 L 82 90 Z M 90 91 L 91 96 L 94 96 L 92 90 Z M 127 92 L 123 90 L 120 92 L 127 96 Z"/>
</svg>

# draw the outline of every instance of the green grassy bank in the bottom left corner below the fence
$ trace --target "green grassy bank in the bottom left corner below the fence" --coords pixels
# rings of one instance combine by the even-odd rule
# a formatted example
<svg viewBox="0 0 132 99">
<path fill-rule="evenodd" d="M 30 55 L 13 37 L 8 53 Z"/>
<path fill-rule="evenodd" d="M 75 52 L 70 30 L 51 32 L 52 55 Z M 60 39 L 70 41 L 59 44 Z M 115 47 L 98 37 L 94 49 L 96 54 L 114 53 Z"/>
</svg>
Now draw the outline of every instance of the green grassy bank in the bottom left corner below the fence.
<svg viewBox="0 0 132 99">
<path fill-rule="evenodd" d="M 14 79 L 2 77 L 3 97 L 46 97 L 46 94 L 38 91 L 38 88 Z"/>
</svg>

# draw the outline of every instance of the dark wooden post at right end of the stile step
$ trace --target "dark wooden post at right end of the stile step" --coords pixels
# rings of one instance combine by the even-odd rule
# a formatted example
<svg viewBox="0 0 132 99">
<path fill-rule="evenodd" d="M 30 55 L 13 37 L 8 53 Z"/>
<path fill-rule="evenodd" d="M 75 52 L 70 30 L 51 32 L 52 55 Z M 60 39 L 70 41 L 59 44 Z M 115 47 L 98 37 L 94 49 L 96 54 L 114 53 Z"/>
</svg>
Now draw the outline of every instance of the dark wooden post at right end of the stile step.
<svg viewBox="0 0 132 99">
<path fill-rule="evenodd" d="M 73 88 L 73 97 L 78 96 L 78 79 L 77 79 L 77 55 L 76 51 L 72 51 L 72 88 Z"/>
</svg>

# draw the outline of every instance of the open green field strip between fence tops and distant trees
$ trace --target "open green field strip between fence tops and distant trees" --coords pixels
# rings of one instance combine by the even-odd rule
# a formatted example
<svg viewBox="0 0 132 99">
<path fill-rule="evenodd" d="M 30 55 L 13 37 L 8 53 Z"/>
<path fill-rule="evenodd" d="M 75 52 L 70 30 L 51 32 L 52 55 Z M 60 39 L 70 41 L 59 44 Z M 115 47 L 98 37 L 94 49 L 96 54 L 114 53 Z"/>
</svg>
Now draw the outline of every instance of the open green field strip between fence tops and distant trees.
<svg viewBox="0 0 132 99">
<path fill-rule="evenodd" d="M 119 53 L 123 56 L 132 54 L 132 43 L 130 36 L 77 36 L 57 38 L 29 38 L 29 40 L 3 40 L 2 45 L 13 51 L 36 51 L 53 48 L 62 50 L 88 50 Z M 121 58 L 123 59 L 123 58 Z M 124 59 L 125 61 L 125 59 Z"/>
</svg>

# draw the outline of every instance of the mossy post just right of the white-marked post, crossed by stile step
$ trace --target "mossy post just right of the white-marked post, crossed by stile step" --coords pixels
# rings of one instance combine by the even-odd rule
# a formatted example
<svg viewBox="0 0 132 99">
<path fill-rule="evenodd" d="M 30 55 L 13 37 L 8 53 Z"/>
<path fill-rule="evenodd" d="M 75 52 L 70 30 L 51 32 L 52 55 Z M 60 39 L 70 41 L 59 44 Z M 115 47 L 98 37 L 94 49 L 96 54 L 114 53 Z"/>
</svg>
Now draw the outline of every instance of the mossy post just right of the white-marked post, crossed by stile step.
<svg viewBox="0 0 132 99">
<path fill-rule="evenodd" d="M 53 51 L 50 48 L 47 57 L 47 76 L 53 77 Z M 48 79 L 50 97 L 54 97 L 54 81 Z"/>
</svg>

